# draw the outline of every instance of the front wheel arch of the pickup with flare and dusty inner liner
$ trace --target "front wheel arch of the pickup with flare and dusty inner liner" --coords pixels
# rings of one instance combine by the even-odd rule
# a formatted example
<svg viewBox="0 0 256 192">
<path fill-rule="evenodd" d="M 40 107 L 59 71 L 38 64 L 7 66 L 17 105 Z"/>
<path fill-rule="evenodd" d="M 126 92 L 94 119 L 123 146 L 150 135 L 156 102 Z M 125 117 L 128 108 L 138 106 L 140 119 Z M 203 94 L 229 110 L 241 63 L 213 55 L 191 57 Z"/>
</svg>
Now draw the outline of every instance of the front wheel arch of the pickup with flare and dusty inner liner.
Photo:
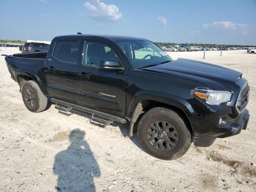
<svg viewBox="0 0 256 192">
<path fill-rule="evenodd" d="M 171 108 L 177 111 L 186 120 L 191 130 L 197 124 L 196 114 L 193 108 L 183 98 L 159 92 L 154 92 L 154 94 L 147 92 L 136 96 L 128 108 L 127 118 L 130 120 L 129 136 L 132 136 L 136 132 L 136 124 L 142 115 L 154 107 Z"/>
</svg>

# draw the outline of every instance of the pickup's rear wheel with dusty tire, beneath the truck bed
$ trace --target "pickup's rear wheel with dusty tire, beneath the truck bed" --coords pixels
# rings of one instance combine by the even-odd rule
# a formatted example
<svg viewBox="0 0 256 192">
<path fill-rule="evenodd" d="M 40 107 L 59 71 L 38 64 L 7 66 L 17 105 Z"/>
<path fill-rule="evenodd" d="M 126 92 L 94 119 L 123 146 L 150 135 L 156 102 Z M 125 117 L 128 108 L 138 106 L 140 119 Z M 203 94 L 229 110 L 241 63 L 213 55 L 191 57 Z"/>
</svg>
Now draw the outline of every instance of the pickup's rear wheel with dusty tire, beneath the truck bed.
<svg viewBox="0 0 256 192">
<path fill-rule="evenodd" d="M 36 82 L 25 82 L 21 93 L 26 108 L 31 112 L 38 113 L 46 109 L 47 97 L 42 93 Z"/>
</svg>

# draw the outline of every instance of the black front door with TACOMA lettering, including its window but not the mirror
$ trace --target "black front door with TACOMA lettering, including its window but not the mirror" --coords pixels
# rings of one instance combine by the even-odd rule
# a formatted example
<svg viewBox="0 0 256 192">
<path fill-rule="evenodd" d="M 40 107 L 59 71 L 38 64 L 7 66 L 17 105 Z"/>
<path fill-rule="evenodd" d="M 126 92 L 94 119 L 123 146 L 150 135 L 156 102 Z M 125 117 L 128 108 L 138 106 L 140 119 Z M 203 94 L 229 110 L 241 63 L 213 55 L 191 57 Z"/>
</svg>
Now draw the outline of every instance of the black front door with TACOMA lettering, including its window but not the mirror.
<svg viewBox="0 0 256 192">
<path fill-rule="evenodd" d="M 78 66 L 80 105 L 123 117 L 126 112 L 127 69 L 118 72 L 100 68 L 100 61 L 116 60 L 118 52 L 107 42 L 85 41 L 82 63 Z"/>
</svg>

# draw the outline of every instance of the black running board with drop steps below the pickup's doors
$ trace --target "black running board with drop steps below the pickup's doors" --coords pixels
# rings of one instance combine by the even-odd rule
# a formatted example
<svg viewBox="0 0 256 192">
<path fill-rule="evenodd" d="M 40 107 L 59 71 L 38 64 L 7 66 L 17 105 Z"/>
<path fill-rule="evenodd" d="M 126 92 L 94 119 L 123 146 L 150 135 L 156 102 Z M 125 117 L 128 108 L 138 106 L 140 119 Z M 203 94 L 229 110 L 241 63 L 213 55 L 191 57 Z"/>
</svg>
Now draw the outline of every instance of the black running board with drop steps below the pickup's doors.
<svg viewBox="0 0 256 192">
<path fill-rule="evenodd" d="M 124 119 L 124 118 L 114 116 L 114 115 L 110 115 L 110 114 L 100 112 L 100 111 L 97 111 L 97 110 L 94 110 L 94 109 L 86 108 L 86 107 L 83 107 L 83 106 L 79 106 L 79 105 L 76 105 L 76 104 L 72 104 L 72 103 L 69 103 L 69 102 L 66 102 L 66 101 L 51 98 L 51 102 L 55 103 L 55 106 L 58 106 L 58 104 L 66 106 L 67 108 L 64 108 L 64 107 L 58 108 L 60 110 L 64 110 L 65 112 L 69 112 L 70 110 L 72 110 L 74 108 L 74 109 L 77 109 L 77 110 L 80 110 L 80 111 L 83 111 L 83 112 L 92 113 L 91 121 L 96 122 L 96 123 L 100 123 L 104 126 L 107 126 L 107 125 L 111 124 L 113 121 L 120 122 L 122 124 L 127 123 L 127 120 Z M 94 115 L 97 115 L 97 116 L 100 116 L 100 117 L 103 117 L 103 118 L 106 118 L 106 119 L 109 119 L 109 120 L 108 121 L 103 120 L 103 119 L 95 117 Z"/>
</svg>

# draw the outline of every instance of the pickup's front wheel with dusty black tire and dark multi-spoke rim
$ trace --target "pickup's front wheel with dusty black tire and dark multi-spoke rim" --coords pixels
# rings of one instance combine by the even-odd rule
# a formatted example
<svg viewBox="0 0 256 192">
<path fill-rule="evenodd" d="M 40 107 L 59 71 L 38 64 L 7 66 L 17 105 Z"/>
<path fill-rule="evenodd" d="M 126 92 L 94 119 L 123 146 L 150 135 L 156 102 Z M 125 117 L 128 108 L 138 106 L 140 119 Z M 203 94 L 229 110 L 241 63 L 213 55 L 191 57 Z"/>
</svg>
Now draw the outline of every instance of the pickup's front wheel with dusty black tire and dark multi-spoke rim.
<svg viewBox="0 0 256 192">
<path fill-rule="evenodd" d="M 142 116 L 138 123 L 138 138 L 148 154 L 163 160 L 180 158 L 192 142 L 191 133 L 181 116 L 162 107 L 152 108 Z"/>
</svg>

